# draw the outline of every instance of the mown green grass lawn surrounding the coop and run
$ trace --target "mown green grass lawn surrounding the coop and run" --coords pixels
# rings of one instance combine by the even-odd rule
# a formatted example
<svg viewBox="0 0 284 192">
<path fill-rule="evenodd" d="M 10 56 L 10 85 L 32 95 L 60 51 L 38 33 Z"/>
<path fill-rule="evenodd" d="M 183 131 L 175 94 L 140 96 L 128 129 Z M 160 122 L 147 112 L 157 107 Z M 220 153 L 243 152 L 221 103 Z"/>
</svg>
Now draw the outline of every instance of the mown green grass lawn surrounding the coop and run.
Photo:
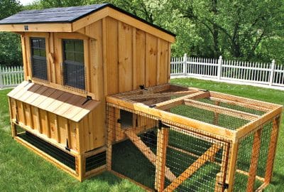
<svg viewBox="0 0 284 192">
<path fill-rule="evenodd" d="M 191 78 L 175 79 L 171 82 L 284 105 L 284 91 Z M 143 191 L 130 181 L 117 178 L 107 172 L 80 183 L 69 174 L 57 169 L 53 164 L 18 144 L 11 138 L 6 98 L 9 91 L 0 91 L 0 191 Z M 283 126 L 282 119 L 278 146 L 284 145 Z M 266 191 L 284 190 L 283 162 L 284 148 L 278 147 L 273 181 Z"/>
</svg>

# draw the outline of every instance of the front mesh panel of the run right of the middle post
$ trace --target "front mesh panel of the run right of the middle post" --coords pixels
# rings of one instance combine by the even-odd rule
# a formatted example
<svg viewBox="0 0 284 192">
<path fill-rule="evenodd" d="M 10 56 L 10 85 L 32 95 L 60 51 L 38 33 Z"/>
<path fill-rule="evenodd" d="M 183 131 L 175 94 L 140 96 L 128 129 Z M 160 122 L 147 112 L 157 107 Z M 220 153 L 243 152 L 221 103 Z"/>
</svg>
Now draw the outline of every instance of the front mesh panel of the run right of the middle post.
<svg viewBox="0 0 284 192">
<path fill-rule="evenodd" d="M 222 191 L 229 144 L 200 134 L 170 127 L 166 166 L 174 181 L 165 181 L 165 191 Z"/>
</svg>

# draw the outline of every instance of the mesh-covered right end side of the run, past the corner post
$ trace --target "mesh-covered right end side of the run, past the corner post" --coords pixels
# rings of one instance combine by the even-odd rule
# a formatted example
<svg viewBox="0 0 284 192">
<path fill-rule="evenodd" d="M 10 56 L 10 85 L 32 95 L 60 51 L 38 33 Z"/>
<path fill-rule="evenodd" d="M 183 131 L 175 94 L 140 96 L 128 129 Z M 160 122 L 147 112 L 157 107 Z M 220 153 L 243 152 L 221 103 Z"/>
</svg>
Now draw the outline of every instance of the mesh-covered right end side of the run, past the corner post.
<svg viewBox="0 0 284 192">
<path fill-rule="evenodd" d="M 272 130 L 273 120 L 270 120 L 239 141 L 235 191 L 254 191 L 263 184 L 266 170 L 273 164 L 268 162 Z"/>
</svg>

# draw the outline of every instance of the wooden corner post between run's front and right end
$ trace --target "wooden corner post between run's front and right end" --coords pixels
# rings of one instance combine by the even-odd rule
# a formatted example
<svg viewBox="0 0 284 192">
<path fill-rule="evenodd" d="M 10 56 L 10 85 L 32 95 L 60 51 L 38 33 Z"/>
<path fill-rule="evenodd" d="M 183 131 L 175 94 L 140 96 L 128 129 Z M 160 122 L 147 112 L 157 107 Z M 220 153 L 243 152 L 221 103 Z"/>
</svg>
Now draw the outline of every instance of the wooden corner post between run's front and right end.
<svg viewBox="0 0 284 192">
<path fill-rule="evenodd" d="M 234 189 L 234 178 L 236 174 L 236 161 L 238 157 L 238 149 L 239 149 L 239 143 L 233 143 L 231 144 L 230 149 L 230 156 L 229 156 L 229 171 L 228 171 L 228 181 L 229 184 L 228 189 L 226 192 L 231 192 Z"/>
</svg>

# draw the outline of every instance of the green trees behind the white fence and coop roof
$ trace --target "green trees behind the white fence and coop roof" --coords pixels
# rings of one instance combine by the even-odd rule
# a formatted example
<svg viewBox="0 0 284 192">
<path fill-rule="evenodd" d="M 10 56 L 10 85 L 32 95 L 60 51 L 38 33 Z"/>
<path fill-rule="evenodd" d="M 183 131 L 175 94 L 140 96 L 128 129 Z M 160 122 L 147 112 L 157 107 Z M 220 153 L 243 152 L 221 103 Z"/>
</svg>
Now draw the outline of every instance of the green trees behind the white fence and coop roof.
<svg viewBox="0 0 284 192">
<path fill-rule="evenodd" d="M 282 0 L 35 0 L 24 9 L 107 2 L 176 33 L 172 56 L 187 53 L 192 56 L 218 58 L 223 55 L 224 58 L 260 62 L 271 62 L 275 59 L 276 63 L 284 63 Z M 0 5 L 0 18 L 21 9 L 16 0 L 2 0 Z M 12 50 L 14 47 L 6 48 Z M 12 58 L 20 56 L 12 55 Z M 12 65 L 9 59 L 2 60 L 1 62 L 7 60 Z"/>
</svg>

